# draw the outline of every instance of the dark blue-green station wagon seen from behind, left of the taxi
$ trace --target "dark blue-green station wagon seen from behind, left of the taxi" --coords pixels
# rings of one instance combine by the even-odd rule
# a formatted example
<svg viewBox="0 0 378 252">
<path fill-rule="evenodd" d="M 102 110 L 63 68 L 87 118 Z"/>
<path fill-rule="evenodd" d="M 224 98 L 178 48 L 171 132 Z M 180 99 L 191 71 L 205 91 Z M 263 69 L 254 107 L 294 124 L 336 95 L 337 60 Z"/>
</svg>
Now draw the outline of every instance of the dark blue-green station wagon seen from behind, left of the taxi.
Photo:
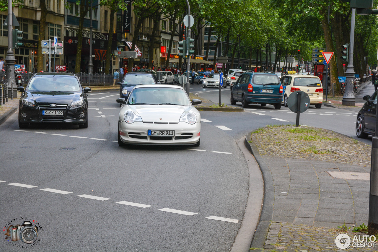
<svg viewBox="0 0 378 252">
<path fill-rule="evenodd" d="M 275 109 L 281 108 L 283 87 L 280 79 L 273 73 L 246 72 L 234 83 L 231 89 L 231 104 L 237 101 L 242 107 L 248 107 L 250 103 L 274 105 Z"/>
</svg>

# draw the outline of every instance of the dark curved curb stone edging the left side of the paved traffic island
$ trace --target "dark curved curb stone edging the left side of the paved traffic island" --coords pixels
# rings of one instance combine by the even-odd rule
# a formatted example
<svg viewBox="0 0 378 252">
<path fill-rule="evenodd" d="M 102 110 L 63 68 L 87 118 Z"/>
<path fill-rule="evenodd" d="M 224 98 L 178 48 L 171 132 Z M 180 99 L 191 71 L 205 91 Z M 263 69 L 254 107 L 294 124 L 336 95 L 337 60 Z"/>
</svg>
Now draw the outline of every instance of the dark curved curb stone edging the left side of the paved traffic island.
<svg viewBox="0 0 378 252">
<path fill-rule="evenodd" d="M 266 236 L 268 235 L 268 228 L 273 217 L 274 181 L 268 165 L 266 165 L 263 158 L 260 156 L 259 149 L 257 148 L 257 145 L 252 141 L 250 134 L 246 136 L 245 141 L 247 149 L 255 157 L 259 165 L 264 180 L 264 196 L 262 210 L 260 213 L 259 223 L 257 225 L 257 229 L 255 231 L 251 244 L 251 247 L 263 249 L 265 245 Z"/>
</svg>

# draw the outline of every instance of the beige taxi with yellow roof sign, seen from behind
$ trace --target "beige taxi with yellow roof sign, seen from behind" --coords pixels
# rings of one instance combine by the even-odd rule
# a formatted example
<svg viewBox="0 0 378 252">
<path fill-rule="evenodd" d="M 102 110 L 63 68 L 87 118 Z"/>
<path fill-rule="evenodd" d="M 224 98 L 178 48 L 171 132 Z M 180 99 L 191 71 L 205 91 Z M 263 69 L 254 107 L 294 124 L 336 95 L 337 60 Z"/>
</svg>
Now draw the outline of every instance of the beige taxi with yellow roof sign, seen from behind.
<svg viewBox="0 0 378 252">
<path fill-rule="evenodd" d="M 283 75 L 280 78 L 283 87 L 282 103 L 287 107 L 287 98 L 294 91 L 303 91 L 310 97 L 310 105 L 317 109 L 322 107 L 323 87 L 318 76 L 314 75 Z"/>
</svg>

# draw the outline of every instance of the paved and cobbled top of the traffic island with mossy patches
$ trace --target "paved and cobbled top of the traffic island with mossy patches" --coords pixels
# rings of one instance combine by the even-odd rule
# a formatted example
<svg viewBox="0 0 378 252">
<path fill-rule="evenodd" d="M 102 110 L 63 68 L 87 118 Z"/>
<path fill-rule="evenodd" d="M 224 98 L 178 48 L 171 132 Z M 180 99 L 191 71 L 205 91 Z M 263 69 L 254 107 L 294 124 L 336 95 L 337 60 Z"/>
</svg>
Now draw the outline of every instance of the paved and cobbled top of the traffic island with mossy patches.
<svg viewBox="0 0 378 252">
<path fill-rule="evenodd" d="M 245 143 L 264 179 L 251 250 L 338 251 L 339 233 L 351 241 L 355 235 L 363 239 L 366 233 L 352 230 L 353 224 L 368 221 L 370 145 L 333 131 L 293 125 L 259 128 Z M 376 251 L 378 244 L 374 246 L 351 244 L 347 251 Z"/>
</svg>

